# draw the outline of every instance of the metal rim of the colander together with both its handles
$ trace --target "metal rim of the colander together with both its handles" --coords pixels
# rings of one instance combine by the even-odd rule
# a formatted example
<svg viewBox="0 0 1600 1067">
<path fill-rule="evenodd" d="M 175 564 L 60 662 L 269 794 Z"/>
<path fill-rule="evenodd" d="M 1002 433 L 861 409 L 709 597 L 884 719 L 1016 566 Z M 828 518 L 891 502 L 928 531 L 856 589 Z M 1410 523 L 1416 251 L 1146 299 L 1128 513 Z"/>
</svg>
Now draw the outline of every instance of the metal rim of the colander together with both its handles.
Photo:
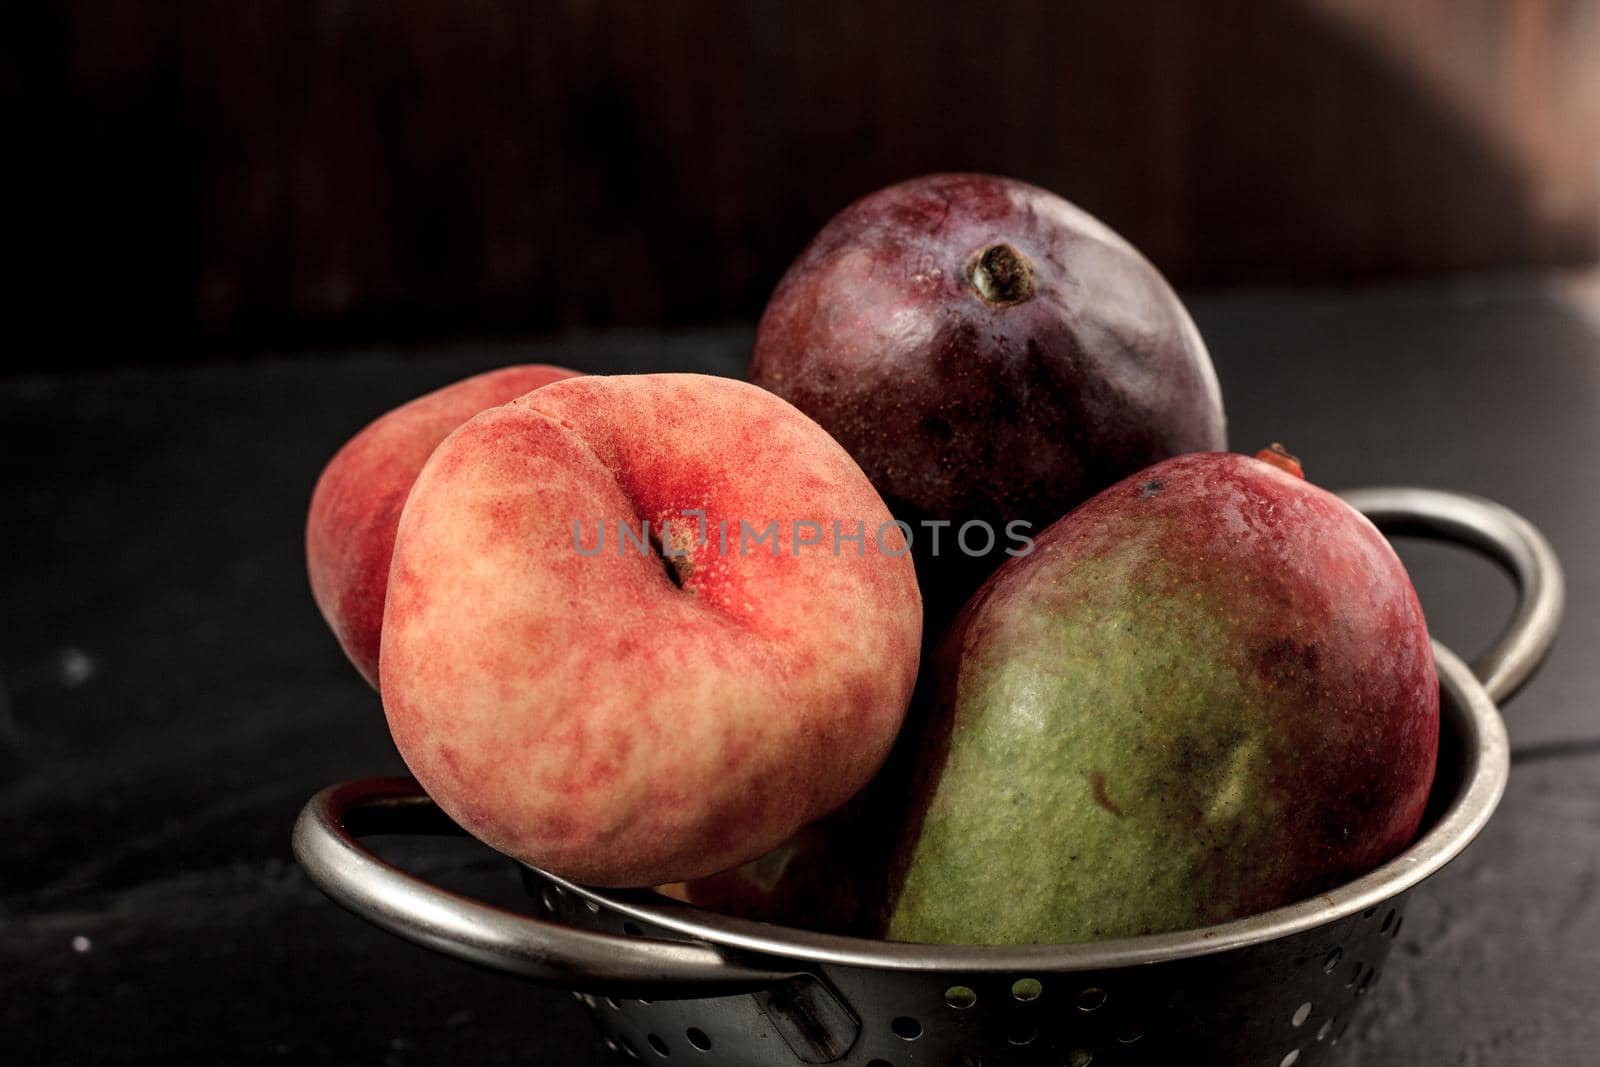
<svg viewBox="0 0 1600 1067">
<path fill-rule="evenodd" d="M 1560 625 L 1562 566 L 1544 536 L 1510 509 L 1421 486 L 1341 496 L 1390 534 L 1477 549 L 1517 584 L 1501 637 L 1470 667 L 1434 643 L 1442 729 L 1454 742 L 1453 793 L 1437 821 L 1397 859 L 1310 899 L 1202 929 L 1066 945 L 926 945 L 867 941 L 712 913 L 650 891 L 602 891 L 533 870 L 557 891 L 678 934 L 618 936 L 458 896 L 379 859 L 368 833 L 459 832 L 414 779 L 363 779 L 312 797 L 294 824 L 294 854 L 334 901 L 371 923 L 482 966 L 538 982 L 635 997 L 710 997 L 771 987 L 806 965 L 899 973 L 1094 971 L 1210 957 L 1294 937 L 1414 888 L 1454 859 L 1494 813 L 1510 774 L 1496 702 L 1538 670 Z M 1446 787 L 1435 782 L 1435 790 Z M 1438 800 L 1443 800 L 1440 793 Z M 1437 809 L 1437 808 L 1435 808 Z M 629 929 L 624 934 L 642 933 Z M 648 992 L 646 992 L 648 990 Z"/>
</svg>

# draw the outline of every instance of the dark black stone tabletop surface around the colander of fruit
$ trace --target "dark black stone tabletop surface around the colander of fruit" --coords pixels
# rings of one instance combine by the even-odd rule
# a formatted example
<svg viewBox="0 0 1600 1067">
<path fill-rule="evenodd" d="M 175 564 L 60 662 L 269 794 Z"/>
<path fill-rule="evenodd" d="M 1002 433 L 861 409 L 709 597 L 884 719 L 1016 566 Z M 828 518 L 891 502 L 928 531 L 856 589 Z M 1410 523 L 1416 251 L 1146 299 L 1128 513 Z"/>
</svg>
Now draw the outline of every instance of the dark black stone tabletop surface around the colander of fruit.
<svg viewBox="0 0 1600 1067">
<path fill-rule="evenodd" d="M 1600 326 L 1549 282 L 1194 301 L 1235 448 L 1333 488 L 1499 499 L 1568 568 L 1563 638 L 1509 709 L 1512 785 L 1424 886 L 1368 1064 L 1576 1064 L 1600 1049 Z M 323 784 L 398 771 L 301 565 L 320 464 L 366 419 L 515 360 L 742 370 L 747 330 L 352 352 L 0 381 L 0 1033 L 14 1064 L 600 1062 L 578 1003 L 413 949 L 288 854 Z M 1510 590 L 1406 547 L 1435 633 L 1486 643 Z M 512 899 L 442 843 L 411 865 Z M 82 941 L 80 941 L 82 939 Z"/>
</svg>

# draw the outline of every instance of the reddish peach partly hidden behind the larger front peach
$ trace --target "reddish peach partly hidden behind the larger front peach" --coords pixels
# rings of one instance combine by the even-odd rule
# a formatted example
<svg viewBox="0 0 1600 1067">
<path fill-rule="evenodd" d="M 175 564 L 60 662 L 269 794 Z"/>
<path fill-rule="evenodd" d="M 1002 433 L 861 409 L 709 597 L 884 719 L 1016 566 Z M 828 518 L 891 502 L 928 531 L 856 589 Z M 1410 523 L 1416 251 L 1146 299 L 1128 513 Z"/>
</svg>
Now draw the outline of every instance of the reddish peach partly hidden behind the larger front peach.
<svg viewBox="0 0 1600 1067">
<path fill-rule="evenodd" d="M 478 411 L 576 373 L 528 365 L 467 378 L 379 416 L 328 461 L 306 518 L 306 569 L 322 617 L 373 686 L 395 526 L 422 464 Z"/>
</svg>

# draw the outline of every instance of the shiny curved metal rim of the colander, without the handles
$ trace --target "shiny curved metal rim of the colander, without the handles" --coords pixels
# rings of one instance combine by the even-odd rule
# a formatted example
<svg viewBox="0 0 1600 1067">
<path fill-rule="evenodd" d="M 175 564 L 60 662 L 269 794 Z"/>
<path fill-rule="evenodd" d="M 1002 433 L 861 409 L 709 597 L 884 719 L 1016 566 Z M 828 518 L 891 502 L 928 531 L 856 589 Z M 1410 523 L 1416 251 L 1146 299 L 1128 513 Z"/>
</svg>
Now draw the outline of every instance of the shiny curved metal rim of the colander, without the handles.
<svg viewBox="0 0 1600 1067">
<path fill-rule="evenodd" d="M 1456 795 L 1434 825 L 1395 859 L 1336 889 L 1214 926 L 1064 945 L 930 945 L 776 926 L 709 912 L 651 891 L 608 893 L 534 872 L 581 899 L 661 929 L 795 963 L 891 971 L 1091 971 L 1245 949 L 1357 915 L 1405 893 L 1459 856 L 1494 814 L 1510 776 L 1506 725 L 1483 685 L 1454 653 L 1434 641 L 1434 659 L 1443 696 L 1440 707 L 1462 753 Z"/>
</svg>

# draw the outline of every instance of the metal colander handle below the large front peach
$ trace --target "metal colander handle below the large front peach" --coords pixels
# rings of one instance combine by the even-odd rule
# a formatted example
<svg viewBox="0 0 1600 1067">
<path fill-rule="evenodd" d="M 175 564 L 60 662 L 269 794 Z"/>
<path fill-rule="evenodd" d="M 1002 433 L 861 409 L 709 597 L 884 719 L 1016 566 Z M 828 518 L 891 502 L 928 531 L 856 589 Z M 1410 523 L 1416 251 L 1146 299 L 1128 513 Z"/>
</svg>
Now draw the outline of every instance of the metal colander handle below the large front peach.
<svg viewBox="0 0 1600 1067">
<path fill-rule="evenodd" d="M 294 822 L 294 857 L 323 893 L 370 923 L 458 960 L 576 992 L 661 1000 L 747 993 L 802 977 L 712 945 L 573 929 L 470 901 L 384 862 L 360 843 L 368 833 L 461 830 L 410 777 L 330 785 Z"/>
</svg>

